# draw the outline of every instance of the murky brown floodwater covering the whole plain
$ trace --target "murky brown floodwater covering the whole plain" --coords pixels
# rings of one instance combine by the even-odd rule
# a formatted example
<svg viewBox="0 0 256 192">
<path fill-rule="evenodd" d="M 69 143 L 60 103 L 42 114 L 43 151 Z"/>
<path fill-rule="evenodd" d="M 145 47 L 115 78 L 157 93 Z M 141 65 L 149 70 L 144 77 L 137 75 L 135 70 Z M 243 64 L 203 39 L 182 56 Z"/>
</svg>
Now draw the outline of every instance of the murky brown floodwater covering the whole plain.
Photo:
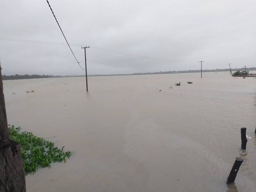
<svg viewBox="0 0 256 192">
<path fill-rule="evenodd" d="M 86 93 L 84 77 L 4 81 L 8 123 L 72 151 L 27 175 L 28 192 L 255 191 L 256 79 L 218 72 L 88 83 Z M 227 186 L 236 157 L 244 162 Z"/>
</svg>

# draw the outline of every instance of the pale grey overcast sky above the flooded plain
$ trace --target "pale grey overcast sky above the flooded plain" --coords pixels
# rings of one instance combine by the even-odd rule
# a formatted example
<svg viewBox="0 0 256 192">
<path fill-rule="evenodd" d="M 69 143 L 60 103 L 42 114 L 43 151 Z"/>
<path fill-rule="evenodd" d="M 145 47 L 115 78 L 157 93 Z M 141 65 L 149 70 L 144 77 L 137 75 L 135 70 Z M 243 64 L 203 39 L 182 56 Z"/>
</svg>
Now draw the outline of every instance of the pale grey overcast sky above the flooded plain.
<svg viewBox="0 0 256 192">
<path fill-rule="evenodd" d="M 255 0 L 49 0 L 88 74 L 256 67 Z M 63 44 L 6 41 L 3 38 Z M 2 74 L 82 75 L 46 0 L 0 3 Z M 84 49 L 71 46 L 84 68 Z M 122 53 L 125 54 L 122 54 Z M 155 58 L 155 59 L 153 59 Z"/>
</svg>

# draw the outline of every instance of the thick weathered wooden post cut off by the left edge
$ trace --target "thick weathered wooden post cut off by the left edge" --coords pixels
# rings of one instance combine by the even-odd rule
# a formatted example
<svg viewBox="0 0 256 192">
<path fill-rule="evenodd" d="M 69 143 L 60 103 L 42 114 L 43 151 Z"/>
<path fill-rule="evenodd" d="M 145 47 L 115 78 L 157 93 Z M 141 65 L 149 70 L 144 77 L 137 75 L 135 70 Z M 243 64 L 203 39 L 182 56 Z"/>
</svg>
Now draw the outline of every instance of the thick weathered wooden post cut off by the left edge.
<svg viewBox="0 0 256 192">
<path fill-rule="evenodd" d="M 26 192 L 20 143 L 9 139 L 0 66 L 0 191 Z"/>
</svg>

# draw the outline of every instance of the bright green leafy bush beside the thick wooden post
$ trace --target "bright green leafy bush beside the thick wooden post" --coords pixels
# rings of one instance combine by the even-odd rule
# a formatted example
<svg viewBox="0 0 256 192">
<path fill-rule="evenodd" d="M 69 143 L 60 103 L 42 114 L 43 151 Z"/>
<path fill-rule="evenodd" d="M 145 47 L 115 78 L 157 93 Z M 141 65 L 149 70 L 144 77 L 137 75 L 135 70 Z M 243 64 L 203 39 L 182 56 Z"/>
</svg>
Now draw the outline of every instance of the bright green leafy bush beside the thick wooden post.
<svg viewBox="0 0 256 192">
<path fill-rule="evenodd" d="M 20 127 L 15 128 L 14 125 L 9 125 L 9 135 L 12 140 L 21 144 L 21 157 L 26 173 L 47 167 L 52 162 L 61 162 L 71 155 L 70 151 L 64 151 L 64 147 L 59 149 L 54 143 L 37 137 L 32 132 L 20 133 Z"/>
</svg>

